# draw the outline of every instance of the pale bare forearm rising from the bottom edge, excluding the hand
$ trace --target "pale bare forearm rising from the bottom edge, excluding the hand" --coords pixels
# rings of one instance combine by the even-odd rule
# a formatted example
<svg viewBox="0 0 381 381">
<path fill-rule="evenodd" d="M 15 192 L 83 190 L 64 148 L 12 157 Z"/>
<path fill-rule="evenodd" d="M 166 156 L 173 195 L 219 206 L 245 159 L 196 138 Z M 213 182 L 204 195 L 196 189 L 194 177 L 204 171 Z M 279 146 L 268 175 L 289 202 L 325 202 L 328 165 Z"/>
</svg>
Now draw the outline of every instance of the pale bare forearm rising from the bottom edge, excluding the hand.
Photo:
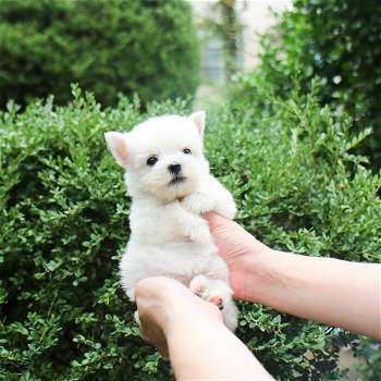
<svg viewBox="0 0 381 381">
<path fill-rule="evenodd" d="M 176 380 L 272 380 L 247 347 L 221 321 L 190 318 L 167 334 Z"/>
</svg>

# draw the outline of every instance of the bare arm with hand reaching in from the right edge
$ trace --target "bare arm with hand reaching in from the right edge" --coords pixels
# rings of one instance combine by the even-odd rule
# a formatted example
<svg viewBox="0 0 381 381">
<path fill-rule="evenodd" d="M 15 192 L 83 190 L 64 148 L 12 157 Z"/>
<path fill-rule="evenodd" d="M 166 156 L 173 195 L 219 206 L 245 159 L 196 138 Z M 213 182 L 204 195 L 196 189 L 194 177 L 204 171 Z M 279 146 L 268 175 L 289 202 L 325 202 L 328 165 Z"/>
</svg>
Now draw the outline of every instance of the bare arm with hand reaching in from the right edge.
<svg viewBox="0 0 381 381">
<path fill-rule="evenodd" d="M 234 221 L 206 219 L 238 299 L 381 339 L 381 266 L 272 250 Z"/>
</svg>

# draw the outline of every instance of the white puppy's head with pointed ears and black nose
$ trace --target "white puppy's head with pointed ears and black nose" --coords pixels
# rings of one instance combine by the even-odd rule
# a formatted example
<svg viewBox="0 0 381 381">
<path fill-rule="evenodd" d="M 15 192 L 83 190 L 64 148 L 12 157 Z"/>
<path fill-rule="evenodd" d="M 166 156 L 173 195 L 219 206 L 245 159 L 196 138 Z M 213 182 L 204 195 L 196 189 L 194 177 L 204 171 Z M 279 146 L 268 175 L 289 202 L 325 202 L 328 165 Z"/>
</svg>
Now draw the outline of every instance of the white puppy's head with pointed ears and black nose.
<svg viewBox="0 0 381 381">
<path fill-rule="evenodd" d="M 133 197 L 173 201 L 193 193 L 209 173 L 202 153 L 205 112 L 164 115 L 138 124 L 130 133 L 108 132 L 108 147 L 125 169 Z"/>
</svg>

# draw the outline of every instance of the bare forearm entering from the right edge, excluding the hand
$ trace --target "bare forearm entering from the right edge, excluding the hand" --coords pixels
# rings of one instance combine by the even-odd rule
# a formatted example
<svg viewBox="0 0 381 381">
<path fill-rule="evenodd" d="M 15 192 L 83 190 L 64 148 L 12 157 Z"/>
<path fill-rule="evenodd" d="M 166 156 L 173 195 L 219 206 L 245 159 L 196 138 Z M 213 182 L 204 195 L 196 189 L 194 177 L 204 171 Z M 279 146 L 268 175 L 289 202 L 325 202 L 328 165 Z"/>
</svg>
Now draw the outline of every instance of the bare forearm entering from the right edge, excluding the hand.
<svg viewBox="0 0 381 381">
<path fill-rule="evenodd" d="M 253 268 L 253 271 L 258 270 Z M 271 251 L 257 284 L 260 290 L 253 293 L 254 302 L 381 337 L 379 265 Z"/>
</svg>

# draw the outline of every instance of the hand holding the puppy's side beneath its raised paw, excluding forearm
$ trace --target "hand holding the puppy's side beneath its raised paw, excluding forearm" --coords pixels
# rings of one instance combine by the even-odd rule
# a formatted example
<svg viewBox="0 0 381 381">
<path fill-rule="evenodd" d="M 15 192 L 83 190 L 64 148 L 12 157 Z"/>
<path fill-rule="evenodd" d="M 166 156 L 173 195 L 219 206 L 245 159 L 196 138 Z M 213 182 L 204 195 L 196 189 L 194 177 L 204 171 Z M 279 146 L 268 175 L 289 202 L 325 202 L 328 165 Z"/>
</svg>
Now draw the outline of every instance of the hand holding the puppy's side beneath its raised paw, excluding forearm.
<svg viewBox="0 0 381 381">
<path fill-rule="evenodd" d="M 204 214 L 221 257 L 230 270 L 234 297 L 257 302 L 263 265 L 273 251 L 232 220 L 210 212 Z"/>
</svg>

